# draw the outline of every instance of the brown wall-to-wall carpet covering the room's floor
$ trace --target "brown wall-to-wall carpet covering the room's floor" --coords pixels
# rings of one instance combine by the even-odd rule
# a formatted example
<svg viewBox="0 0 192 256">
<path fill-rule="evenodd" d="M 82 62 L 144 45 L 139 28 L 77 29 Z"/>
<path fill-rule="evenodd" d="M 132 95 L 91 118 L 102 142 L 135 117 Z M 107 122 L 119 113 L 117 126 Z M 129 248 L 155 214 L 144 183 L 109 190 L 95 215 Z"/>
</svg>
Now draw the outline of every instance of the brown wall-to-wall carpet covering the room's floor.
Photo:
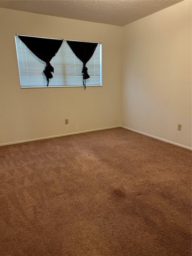
<svg viewBox="0 0 192 256">
<path fill-rule="evenodd" d="M 191 151 L 123 128 L 0 147 L 0 255 L 191 255 Z"/>
</svg>

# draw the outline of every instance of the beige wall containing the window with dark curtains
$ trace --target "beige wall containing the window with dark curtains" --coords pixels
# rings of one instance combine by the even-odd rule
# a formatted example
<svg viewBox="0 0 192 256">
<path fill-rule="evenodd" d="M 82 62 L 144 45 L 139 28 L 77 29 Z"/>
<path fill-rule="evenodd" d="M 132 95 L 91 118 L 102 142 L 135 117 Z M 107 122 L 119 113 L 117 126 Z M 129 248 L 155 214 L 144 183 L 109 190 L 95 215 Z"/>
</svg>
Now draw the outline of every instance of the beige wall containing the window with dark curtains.
<svg viewBox="0 0 192 256">
<path fill-rule="evenodd" d="M 0 11 L 0 144 L 120 125 L 122 27 Z M 21 89 L 14 34 L 101 42 L 103 87 Z"/>
</svg>

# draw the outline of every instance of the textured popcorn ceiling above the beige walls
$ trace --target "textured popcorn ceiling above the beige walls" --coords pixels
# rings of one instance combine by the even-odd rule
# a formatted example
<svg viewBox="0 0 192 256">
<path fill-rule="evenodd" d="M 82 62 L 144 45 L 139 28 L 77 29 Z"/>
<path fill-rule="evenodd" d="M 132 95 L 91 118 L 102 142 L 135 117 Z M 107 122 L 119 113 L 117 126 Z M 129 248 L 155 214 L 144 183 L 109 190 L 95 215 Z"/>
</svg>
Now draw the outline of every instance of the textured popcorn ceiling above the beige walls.
<svg viewBox="0 0 192 256">
<path fill-rule="evenodd" d="M 124 26 L 183 0 L 1 0 L 0 7 Z"/>
</svg>

